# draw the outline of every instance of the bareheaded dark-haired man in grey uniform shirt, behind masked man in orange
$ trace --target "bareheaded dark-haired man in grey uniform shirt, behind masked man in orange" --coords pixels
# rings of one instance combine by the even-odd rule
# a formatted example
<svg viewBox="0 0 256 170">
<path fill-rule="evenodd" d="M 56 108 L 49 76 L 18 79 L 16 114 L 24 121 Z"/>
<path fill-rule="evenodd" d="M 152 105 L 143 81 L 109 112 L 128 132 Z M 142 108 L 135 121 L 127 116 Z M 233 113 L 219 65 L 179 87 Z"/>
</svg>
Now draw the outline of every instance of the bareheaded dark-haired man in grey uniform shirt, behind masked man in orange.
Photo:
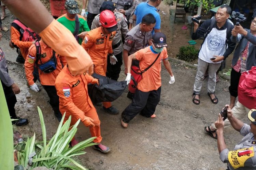
<svg viewBox="0 0 256 170">
<path fill-rule="evenodd" d="M 125 63 L 125 74 L 127 74 L 127 60 L 128 56 L 139 51 L 140 49 L 146 48 L 151 45 L 151 31 L 155 27 L 156 19 L 153 14 L 146 14 L 142 18 L 142 21 L 137 26 L 133 27 L 125 37 L 124 43 L 124 63 Z M 137 60 L 132 61 L 132 65 L 139 66 Z M 133 98 L 133 94 L 128 91 L 127 97 Z"/>
</svg>

